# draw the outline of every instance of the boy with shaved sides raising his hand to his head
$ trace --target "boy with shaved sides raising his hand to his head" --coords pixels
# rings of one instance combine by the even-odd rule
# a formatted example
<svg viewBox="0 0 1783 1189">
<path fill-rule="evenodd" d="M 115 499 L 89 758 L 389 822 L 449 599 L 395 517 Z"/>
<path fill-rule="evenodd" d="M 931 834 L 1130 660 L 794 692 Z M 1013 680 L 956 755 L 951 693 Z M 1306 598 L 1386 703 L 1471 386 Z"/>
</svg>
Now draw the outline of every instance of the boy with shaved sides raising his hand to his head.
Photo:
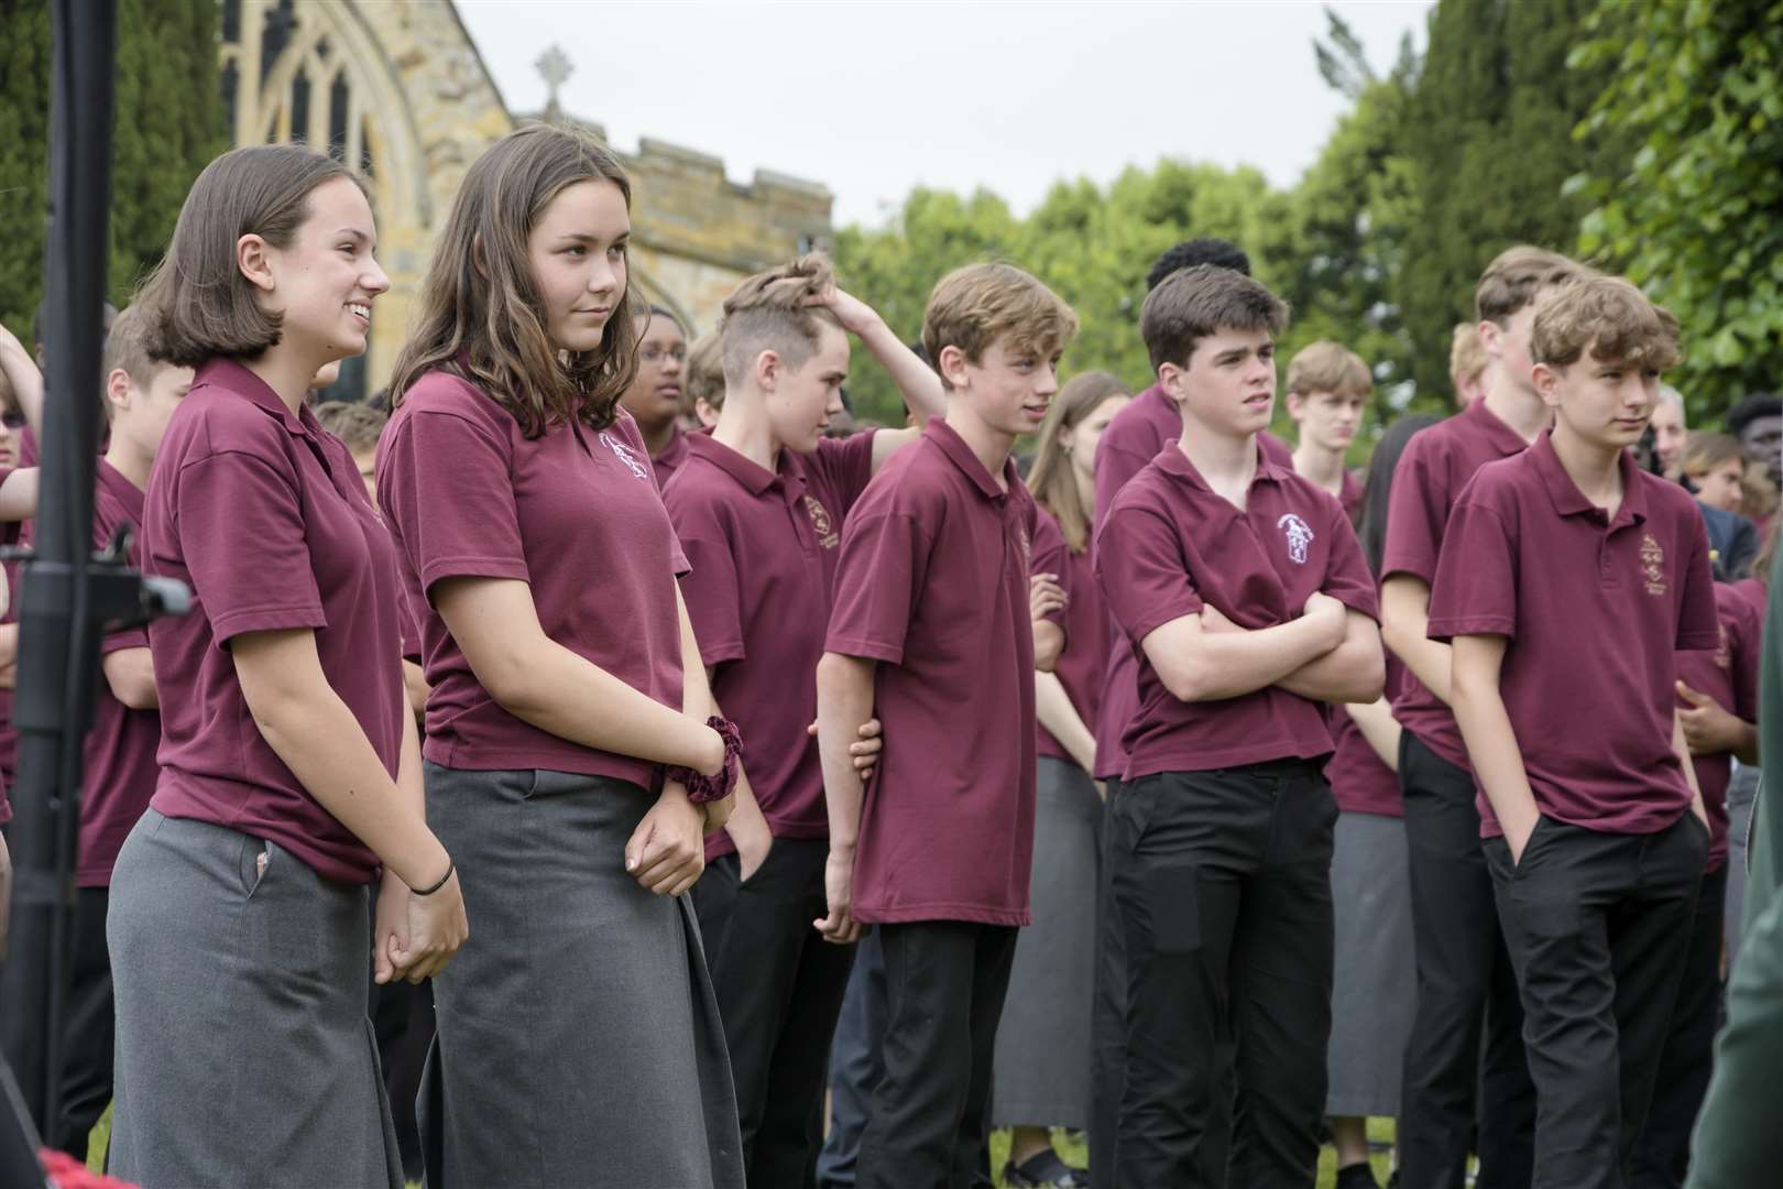
<svg viewBox="0 0 1783 1189">
<path fill-rule="evenodd" d="M 850 510 L 918 428 L 824 437 L 842 412 L 849 332 L 893 374 L 918 424 L 943 410 L 940 378 L 884 319 L 834 285 L 829 260 L 758 273 L 724 303 L 722 412 L 686 435 L 663 504 L 719 706 L 749 742 L 736 808 L 706 840 L 694 886 L 724 1018 L 751 1185 L 813 1177 L 824 1073 L 854 950 L 826 945 L 829 818 L 808 727 L 831 586 Z M 695 358 L 701 344 L 695 344 Z M 859 747 L 859 743 L 856 745 Z"/>
</svg>

